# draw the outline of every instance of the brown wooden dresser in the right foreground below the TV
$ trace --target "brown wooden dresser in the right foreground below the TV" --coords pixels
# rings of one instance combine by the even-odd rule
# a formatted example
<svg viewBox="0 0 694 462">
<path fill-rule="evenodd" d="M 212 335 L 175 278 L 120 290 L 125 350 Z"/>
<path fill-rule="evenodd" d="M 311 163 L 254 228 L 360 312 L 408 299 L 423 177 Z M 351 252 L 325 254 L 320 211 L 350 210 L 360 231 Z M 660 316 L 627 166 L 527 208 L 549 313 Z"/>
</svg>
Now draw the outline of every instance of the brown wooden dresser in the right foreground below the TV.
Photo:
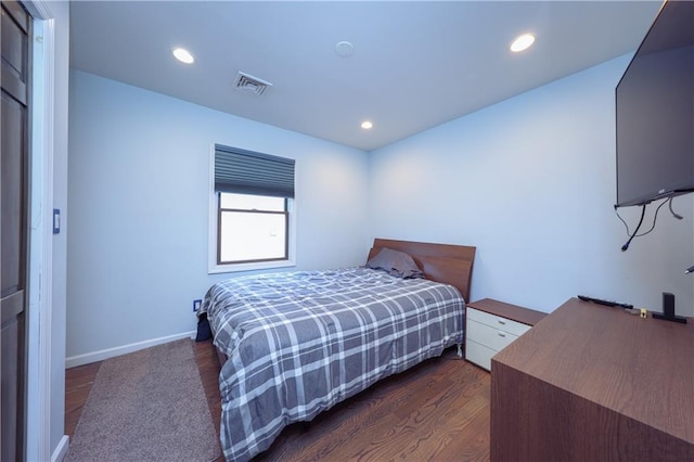
<svg viewBox="0 0 694 462">
<path fill-rule="evenodd" d="M 492 461 L 694 460 L 694 322 L 571 298 L 491 361 Z"/>
</svg>

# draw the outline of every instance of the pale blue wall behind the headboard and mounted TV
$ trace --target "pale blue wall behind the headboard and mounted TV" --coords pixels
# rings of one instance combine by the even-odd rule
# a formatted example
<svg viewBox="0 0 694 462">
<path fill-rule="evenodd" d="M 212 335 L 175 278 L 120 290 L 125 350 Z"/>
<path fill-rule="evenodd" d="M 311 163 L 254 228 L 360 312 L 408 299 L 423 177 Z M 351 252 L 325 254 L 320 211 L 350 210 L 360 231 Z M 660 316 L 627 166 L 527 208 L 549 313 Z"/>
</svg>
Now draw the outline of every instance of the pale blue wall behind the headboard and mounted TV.
<svg viewBox="0 0 694 462">
<path fill-rule="evenodd" d="M 661 293 L 671 292 L 677 312 L 694 316 L 694 281 L 684 274 L 694 265 L 691 196 L 673 203 L 683 221 L 665 206 L 655 231 L 620 252 L 614 90 L 628 61 L 373 152 L 372 234 L 476 245 L 473 299 L 551 311 L 587 294 L 660 311 Z M 621 211 L 632 229 L 639 211 Z"/>
</svg>

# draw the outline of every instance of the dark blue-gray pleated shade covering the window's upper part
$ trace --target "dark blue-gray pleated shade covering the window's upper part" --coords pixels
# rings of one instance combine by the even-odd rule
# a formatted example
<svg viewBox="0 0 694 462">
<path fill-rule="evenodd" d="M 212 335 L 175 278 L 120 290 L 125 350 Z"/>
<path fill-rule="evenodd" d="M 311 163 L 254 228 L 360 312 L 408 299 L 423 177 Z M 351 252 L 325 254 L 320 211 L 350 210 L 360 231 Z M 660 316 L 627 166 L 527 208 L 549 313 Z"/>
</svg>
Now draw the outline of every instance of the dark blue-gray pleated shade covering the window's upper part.
<svg viewBox="0 0 694 462">
<path fill-rule="evenodd" d="M 292 158 L 215 144 L 215 191 L 294 198 L 294 164 Z"/>
</svg>

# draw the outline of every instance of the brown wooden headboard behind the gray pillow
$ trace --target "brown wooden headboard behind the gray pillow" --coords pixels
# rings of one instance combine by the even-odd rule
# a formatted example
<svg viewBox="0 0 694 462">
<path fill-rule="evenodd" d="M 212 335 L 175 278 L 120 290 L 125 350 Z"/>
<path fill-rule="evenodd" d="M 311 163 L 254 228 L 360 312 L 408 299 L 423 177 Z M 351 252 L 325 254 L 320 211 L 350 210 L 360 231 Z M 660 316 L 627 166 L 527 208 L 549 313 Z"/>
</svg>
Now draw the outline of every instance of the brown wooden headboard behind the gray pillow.
<svg viewBox="0 0 694 462">
<path fill-rule="evenodd" d="M 470 285 L 476 247 L 375 239 L 369 259 L 375 257 L 383 247 L 409 254 L 424 271 L 426 279 L 450 284 L 460 291 L 465 303 L 472 301 Z"/>
</svg>

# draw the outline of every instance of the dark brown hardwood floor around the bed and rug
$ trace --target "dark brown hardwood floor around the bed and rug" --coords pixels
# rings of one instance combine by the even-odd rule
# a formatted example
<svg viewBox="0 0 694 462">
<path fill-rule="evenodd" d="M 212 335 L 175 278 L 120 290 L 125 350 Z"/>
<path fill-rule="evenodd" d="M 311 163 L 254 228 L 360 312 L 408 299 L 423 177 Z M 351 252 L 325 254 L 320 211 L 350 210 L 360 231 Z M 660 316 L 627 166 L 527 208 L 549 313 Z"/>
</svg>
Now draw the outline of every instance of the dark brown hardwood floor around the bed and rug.
<svg viewBox="0 0 694 462">
<path fill-rule="evenodd" d="M 195 359 L 219 432 L 219 361 L 209 342 Z M 66 371 L 65 432 L 72 436 L 100 362 Z M 489 460 L 489 373 L 455 357 L 455 348 L 287 426 L 257 460 Z"/>
</svg>

